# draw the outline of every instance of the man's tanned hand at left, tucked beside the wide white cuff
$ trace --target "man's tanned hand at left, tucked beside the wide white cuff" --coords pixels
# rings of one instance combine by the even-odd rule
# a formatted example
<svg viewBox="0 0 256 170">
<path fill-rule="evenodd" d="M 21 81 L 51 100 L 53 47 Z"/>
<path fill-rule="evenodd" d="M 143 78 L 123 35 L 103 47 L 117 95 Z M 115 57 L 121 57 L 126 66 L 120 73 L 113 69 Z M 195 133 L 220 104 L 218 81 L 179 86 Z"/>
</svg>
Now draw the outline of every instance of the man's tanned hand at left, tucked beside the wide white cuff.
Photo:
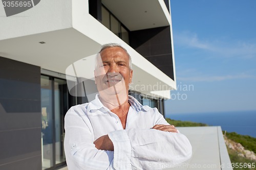
<svg viewBox="0 0 256 170">
<path fill-rule="evenodd" d="M 98 150 L 114 151 L 114 145 L 110 140 L 109 135 L 101 136 L 93 143 Z"/>
</svg>

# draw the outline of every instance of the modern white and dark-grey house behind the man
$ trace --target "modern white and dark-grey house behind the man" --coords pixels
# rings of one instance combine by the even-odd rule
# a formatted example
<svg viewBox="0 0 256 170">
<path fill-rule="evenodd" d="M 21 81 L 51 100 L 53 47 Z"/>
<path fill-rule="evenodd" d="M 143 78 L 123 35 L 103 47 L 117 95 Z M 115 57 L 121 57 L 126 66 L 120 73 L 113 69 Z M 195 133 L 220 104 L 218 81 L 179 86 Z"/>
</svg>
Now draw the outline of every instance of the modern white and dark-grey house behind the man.
<svg viewBox="0 0 256 170">
<path fill-rule="evenodd" d="M 176 89 L 169 0 L 44 0 L 9 17 L 0 3 L 0 16 L 0 169 L 66 164 L 63 117 L 88 101 L 85 91 L 69 93 L 67 79 L 83 77 L 66 69 L 79 60 L 90 65 L 86 57 L 102 44 L 129 51 L 130 94 L 164 114 L 163 100 Z"/>
</svg>

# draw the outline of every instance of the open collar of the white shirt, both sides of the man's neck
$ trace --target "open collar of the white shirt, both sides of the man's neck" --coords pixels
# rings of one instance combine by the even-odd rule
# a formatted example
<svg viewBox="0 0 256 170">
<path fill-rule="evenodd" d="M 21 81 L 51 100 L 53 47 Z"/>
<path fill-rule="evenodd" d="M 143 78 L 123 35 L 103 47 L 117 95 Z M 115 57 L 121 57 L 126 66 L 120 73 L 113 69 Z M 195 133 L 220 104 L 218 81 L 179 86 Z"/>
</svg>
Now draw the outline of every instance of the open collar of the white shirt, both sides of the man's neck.
<svg viewBox="0 0 256 170">
<path fill-rule="evenodd" d="M 131 107 L 136 110 L 136 112 L 140 112 L 141 110 L 145 110 L 145 108 L 137 101 L 133 96 L 128 95 L 128 102 L 130 103 Z M 104 108 L 106 111 L 109 111 L 99 100 L 99 94 L 96 94 L 95 100 L 90 102 L 87 107 L 87 111 L 91 112 L 91 110 L 99 110 Z"/>
</svg>

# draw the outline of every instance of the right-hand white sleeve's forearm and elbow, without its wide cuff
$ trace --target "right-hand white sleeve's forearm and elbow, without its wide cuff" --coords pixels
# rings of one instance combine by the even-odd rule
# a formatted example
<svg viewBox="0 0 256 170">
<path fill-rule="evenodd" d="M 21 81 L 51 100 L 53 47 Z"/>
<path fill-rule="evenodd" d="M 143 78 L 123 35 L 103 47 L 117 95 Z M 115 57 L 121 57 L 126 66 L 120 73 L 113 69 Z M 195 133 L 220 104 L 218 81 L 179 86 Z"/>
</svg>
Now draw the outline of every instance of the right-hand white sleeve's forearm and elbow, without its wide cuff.
<svg viewBox="0 0 256 170">
<path fill-rule="evenodd" d="M 127 135 L 132 147 L 131 163 L 139 169 L 176 167 L 192 155 L 190 142 L 181 133 L 130 129 Z"/>
</svg>

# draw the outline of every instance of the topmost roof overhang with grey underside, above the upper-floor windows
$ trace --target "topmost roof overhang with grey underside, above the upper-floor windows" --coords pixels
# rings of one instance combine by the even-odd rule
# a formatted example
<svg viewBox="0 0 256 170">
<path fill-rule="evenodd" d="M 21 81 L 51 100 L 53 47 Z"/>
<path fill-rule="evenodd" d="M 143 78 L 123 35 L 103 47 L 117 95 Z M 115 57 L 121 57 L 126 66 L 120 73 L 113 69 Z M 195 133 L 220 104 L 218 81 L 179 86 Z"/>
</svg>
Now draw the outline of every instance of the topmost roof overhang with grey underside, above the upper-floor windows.
<svg viewBox="0 0 256 170">
<path fill-rule="evenodd" d="M 130 30 L 144 30 L 170 25 L 170 14 L 163 0 L 102 0 Z"/>
</svg>

